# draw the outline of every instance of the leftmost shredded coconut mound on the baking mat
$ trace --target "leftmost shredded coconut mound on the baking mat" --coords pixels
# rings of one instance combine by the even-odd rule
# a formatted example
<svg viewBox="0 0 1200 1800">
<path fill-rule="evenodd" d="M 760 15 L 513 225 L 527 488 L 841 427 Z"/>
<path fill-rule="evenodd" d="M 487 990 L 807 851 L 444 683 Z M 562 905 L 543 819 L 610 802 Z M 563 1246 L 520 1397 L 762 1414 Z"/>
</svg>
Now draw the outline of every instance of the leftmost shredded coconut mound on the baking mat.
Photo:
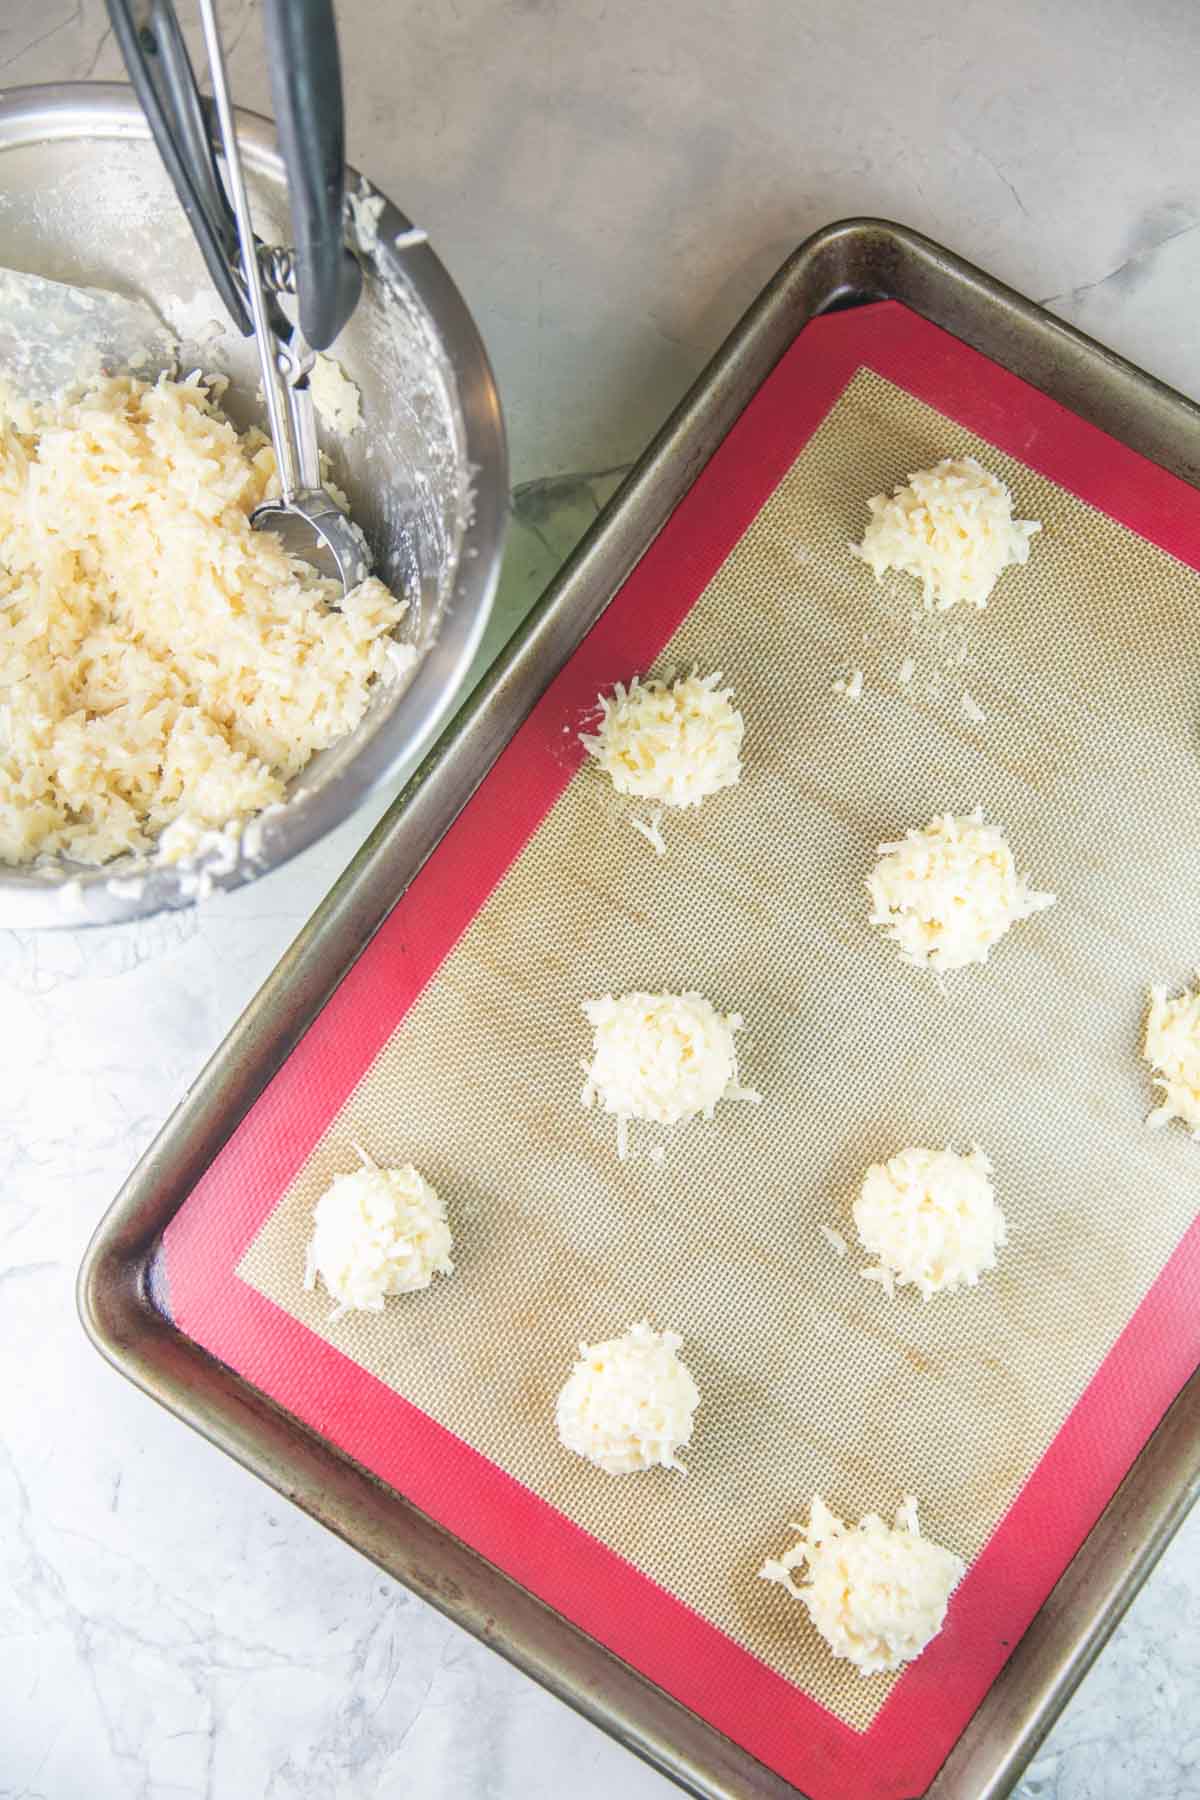
<svg viewBox="0 0 1200 1800">
<path fill-rule="evenodd" d="M 304 1287 L 317 1280 L 336 1301 L 331 1318 L 381 1312 L 389 1294 L 412 1294 L 453 1274 L 446 1208 L 412 1163 L 336 1175 L 313 1210 Z"/>
</svg>

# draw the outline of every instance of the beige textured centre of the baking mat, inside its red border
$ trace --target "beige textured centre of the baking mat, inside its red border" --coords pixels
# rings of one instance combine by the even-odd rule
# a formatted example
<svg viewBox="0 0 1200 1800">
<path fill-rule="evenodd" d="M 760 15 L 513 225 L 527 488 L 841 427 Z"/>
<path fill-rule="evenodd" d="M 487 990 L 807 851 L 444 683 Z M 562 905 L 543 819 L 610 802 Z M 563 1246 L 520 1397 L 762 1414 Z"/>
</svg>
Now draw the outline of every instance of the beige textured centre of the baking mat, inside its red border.
<svg viewBox="0 0 1200 1800">
<path fill-rule="evenodd" d="M 914 625 L 912 587 L 882 607 L 847 544 L 869 493 L 946 454 L 984 459 L 1043 533 L 986 614 Z M 829 1658 L 756 1580 L 763 1555 L 813 1492 L 855 1517 L 916 1492 L 925 1530 L 975 1555 L 1195 1211 L 1196 1147 L 1142 1129 L 1137 1062 L 1146 983 L 1195 954 L 1193 608 L 1195 572 L 856 374 L 662 657 L 734 680 L 741 787 L 669 817 L 660 860 L 583 767 L 241 1262 L 858 1728 L 892 1679 Z M 858 704 L 831 693 L 844 662 L 869 666 Z M 1060 904 L 943 994 L 869 929 L 864 877 L 882 839 L 975 805 Z M 666 1161 L 622 1165 L 579 1107 L 579 1001 L 680 986 L 743 1012 L 765 1103 L 635 1129 Z M 428 1174 L 459 1273 L 329 1325 L 300 1271 L 353 1141 Z M 853 1237 L 862 1170 L 907 1143 L 997 1166 L 1011 1242 L 975 1292 L 889 1303 L 817 1231 Z M 576 1339 L 642 1316 L 684 1332 L 700 1384 L 687 1480 L 613 1481 L 556 1442 Z"/>
</svg>

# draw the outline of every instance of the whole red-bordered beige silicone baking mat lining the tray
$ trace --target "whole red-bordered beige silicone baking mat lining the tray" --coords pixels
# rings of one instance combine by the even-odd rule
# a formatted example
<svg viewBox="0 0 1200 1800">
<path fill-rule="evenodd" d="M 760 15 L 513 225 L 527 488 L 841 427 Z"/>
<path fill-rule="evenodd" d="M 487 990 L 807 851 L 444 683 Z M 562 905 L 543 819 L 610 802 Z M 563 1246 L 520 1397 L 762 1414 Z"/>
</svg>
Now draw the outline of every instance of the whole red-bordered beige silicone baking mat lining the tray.
<svg viewBox="0 0 1200 1800">
<path fill-rule="evenodd" d="M 966 621 L 847 551 L 952 454 L 1043 524 Z M 1196 956 L 1196 565 L 1200 495 L 946 333 L 810 324 L 167 1231 L 184 1330 L 815 1800 L 928 1784 L 1200 1361 L 1200 1147 L 1144 1129 L 1139 1062 L 1148 983 Z M 657 859 L 578 731 L 691 664 L 738 689 L 745 778 Z M 864 877 L 975 805 L 1060 898 L 943 992 Z M 739 1010 L 765 1100 L 619 1163 L 579 1003 L 633 986 Z M 331 1325 L 304 1242 L 353 1141 L 437 1184 L 457 1274 Z M 817 1226 L 853 1235 L 865 1163 L 973 1141 L 999 1271 L 889 1303 Z M 554 1395 L 646 1314 L 700 1384 L 691 1472 L 615 1481 Z M 813 1492 L 916 1492 L 970 1561 L 900 1678 L 756 1579 Z"/>
</svg>

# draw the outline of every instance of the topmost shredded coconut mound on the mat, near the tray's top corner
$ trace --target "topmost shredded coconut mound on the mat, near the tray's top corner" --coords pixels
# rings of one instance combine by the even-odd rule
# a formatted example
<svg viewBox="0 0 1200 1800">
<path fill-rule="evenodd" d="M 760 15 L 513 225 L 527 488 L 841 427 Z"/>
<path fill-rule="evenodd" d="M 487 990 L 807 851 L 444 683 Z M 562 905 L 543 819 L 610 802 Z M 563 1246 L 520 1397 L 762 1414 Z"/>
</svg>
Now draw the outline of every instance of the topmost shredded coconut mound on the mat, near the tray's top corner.
<svg viewBox="0 0 1200 1800">
<path fill-rule="evenodd" d="M 975 457 L 945 459 L 909 475 L 892 495 L 867 500 L 871 522 L 851 549 L 880 581 L 887 569 L 916 576 L 925 607 L 986 607 L 999 576 L 1029 558 L 1042 526 L 1013 518 L 1013 495 Z"/>
</svg>

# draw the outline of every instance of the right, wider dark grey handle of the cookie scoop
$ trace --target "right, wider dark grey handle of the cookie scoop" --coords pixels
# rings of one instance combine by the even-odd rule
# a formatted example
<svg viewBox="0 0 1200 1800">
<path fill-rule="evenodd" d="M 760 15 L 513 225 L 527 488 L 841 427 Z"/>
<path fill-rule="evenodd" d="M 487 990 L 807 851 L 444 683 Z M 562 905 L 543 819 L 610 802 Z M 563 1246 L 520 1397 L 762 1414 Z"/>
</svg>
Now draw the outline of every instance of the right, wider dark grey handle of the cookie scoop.
<svg viewBox="0 0 1200 1800">
<path fill-rule="evenodd" d="M 362 292 L 342 227 L 345 115 L 333 4 L 266 0 L 263 22 L 288 171 L 300 331 L 313 349 L 327 349 Z"/>
</svg>

